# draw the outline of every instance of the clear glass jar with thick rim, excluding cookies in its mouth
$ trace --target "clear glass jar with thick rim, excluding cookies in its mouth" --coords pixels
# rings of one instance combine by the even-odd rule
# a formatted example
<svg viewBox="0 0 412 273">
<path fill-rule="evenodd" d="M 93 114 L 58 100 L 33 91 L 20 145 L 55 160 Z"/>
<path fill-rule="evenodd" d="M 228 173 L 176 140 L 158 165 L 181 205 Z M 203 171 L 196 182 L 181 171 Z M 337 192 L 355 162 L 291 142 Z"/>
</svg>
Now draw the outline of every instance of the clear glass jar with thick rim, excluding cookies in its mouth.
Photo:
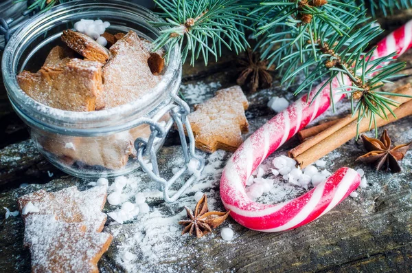
<svg viewBox="0 0 412 273">
<path fill-rule="evenodd" d="M 139 100 L 92 112 L 42 105 L 21 90 L 16 75 L 23 69 L 39 69 L 47 53 L 60 43 L 62 31 L 80 19 L 108 21 L 108 32 L 133 30 L 149 41 L 162 29 L 149 23 L 161 20 L 157 15 L 127 1 L 73 1 L 56 6 L 30 19 L 8 42 L 2 61 L 5 88 L 14 111 L 30 127 L 37 148 L 56 167 L 78 177 L 124 175 L 139 167 L 134 143 L 149 139 L 151 122 L 163 131 L 153 139 L 156 151 L 172 127 L 170 109 L 181 83 L 179 49 L 166 48 L 172 52 L 159 84 Z"/>
</svg>

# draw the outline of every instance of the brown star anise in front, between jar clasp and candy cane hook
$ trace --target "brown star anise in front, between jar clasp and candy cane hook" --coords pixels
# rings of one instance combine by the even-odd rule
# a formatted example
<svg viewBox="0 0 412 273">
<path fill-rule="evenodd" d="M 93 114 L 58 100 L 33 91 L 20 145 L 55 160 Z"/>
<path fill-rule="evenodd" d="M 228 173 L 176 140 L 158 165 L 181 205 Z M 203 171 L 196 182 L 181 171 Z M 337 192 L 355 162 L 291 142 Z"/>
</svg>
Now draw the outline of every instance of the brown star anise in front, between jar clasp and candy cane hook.
<svg viewBox="0 0 412 273">
<path fill-rule="evenodd" d="M 200 238 L 203 235 L 211 232 L 212 228 L 217 228 L 220 226 L 223 221 L 229 216 L 229 211 L 220 212 L 220 211 L 209 211 L 207 208 L 207 197 L 203 197 L 196 204 L 196 208 L 193 211 L 190 208 L 185 206 L 187 217 L 189 219 L 179 221 L 180 225 L 185 226 L 182 231 L 182 235 L 189 232 L 190 235 L 193 235 L 193 232 L 196 232 L 196 237 Z"/>
</svg>

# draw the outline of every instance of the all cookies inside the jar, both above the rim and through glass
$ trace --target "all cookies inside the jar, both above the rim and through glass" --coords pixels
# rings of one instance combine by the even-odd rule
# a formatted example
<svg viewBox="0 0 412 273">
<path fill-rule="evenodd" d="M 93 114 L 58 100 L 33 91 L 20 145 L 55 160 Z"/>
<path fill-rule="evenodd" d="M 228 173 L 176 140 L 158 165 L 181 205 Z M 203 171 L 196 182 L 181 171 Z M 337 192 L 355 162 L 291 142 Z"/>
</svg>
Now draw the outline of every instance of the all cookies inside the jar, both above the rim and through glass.
<svg viewBox="0 0 412 273">
<path fill-rule="evenodd" d="M 121 109 L 141 101 L 161 82 L 163 50 L 133 30 L 117 32 L 110 23 L 82 19 L 62 31 L 50 50 L 32 56 L 16 78 L 21 89 L 45 107 L 73 112 Z M 115 111 L 113 112 L 115 113 Z M 166 113 L 159 122 L 170 119 Z M 32 138 L 44 153 L 75 168 L 118 170 L 136 157 L 134 142 L 148 138 L 143 124 L 108 135 L 56 134 L 32 128 Z"/>
</svg>

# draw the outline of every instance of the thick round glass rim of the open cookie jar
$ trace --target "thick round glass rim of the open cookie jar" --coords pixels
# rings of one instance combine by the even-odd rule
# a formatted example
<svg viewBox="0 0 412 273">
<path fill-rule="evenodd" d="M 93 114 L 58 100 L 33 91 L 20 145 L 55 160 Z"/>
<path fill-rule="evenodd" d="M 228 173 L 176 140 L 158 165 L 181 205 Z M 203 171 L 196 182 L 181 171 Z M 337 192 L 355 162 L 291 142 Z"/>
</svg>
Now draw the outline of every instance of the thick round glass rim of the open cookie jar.
<svg viewBox="0 0 412 273">
<path fill-rule="evenodd" d="M 17 67 L 19 59 L 21 58 L 21 52 L 23 52 L 23 50 L 27 47 L 27 44 L 29 44 L 27 41 L 25 42 L 26 36 L 34 36 L 33 32 L 36 32 L 36 28 L 38 28 L 42 23 L 45 23 L 47 20 L 58 19 L 67 15 L 67 13 L 69 13 L 70 17 L 70 12 L 73 12 L 73 10 L 83 10 L 87 8 L 93 8 L 96 10 L 98 9 L 96 8 L 96 4 L 98 4 L 98 8 L 102 9 L 112 8 L 117 9 L 119 12 L 125 10 L 127 10 L 127 12 L 133 12 L 136 16 L 142 17 L 147 21 L 163 21 L 161 17 L 152 11 L 135 3 L 130 3 L 123 0 L 73 1 L 62 3 L 47 12 L 37 14 L 14 33 L 5 47 L 3 52 L 3 60 L 1 63 L 3 80 L 8 91 L 8 96 L 14 109 L 17 109 L 20 115 L 25 116 L 25 118 L 32 119 L 32 122 L 37 124 L 40 123 L 45 127 L 54 127 L 54 124 L 58 123 L 65 124 L 68 127 L 73 127 L 73 129 L 80 129 L 78 128 L 79 124 L 83 127 L 88 127 L 87 124 L 91 124 L 89 127 L 93 128 L 97 124 L 107 120 L 111 120 L 112 124 L 116 121 L 122 123 L 121 118 L 116 120 L 116 117 L 122 117 L 122 115 L 128 116 L 130 114 L 130 116 L 135 116 L 137 113 L 141 113 L 141 111 L 150 111 L 151 108 L 155 109 L 157 105 L 163 103 L 164 98 L 163 100 L 159 100 L 159 96 L 161 97 L 164 95 L 164 92 L 162 91 L 176 91 L 174 90 L 176 88 L 172 88 L 170 91 L 165 89 L 168 89 L 168 85 L 170 85 L 176 76 L 180 78 L 181 75 L 181 58 L 179 54 L 179 47 L 177 45 L 173 49 L 169 49 L 171 50 L 170 59 L 168 64 L 165 65 L 163 75 L 161 76 L 161 80 L 157 86 L 154 89 L 150 89 L 150 92 L 148 92 L 149 94 L 146 94 L 142 98 L 139 98 L 133 102 L 128 102 L 125 105 L 100 111 L 66 111 L 43 105 L 41 102 L 37 102 L 25 94 L 17 83 L 16 75 L 19 73 L 17 71 Z M 154 31 L 154 34 L 159 35 L 161 30 L 165 30 L 167 28 L 168 27 L 152 27 L 151 30 Z M 38 33 L 41 33 L 41 31 Z M 41 116 L 44 118 L 39 120 L 38 118 L 34 118 L 34 116 Z M 124 129 L 123 126 L 121 127 Z M 131 125 L 128 127 L 131 127 Z"/>
</svg>

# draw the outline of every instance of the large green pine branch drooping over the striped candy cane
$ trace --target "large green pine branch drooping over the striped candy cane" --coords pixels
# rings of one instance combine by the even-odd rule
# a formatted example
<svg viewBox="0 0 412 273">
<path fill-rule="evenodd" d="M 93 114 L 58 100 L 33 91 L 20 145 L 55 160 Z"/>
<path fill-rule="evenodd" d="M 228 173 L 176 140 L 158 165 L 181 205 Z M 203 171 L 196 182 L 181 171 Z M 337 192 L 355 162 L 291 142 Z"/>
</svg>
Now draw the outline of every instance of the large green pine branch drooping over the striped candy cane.
<svg viewBox="0 0 412 273">
<path fill-rule="evenodd" d="M 323 5 L 317 6 L 318 11 L 310 14 L 310 20 L 302 17 L 302 2 L 306 6 L 316 4 L 304 0 L 294 1 L 294 5 L 287 0 L 266 1 L 262 6 L 271 6 L 271 10 L 261 6 L 251 12 L 261 19 L 257 49 L 261 50 L 262 57 L 284 75 L 282 84 L 290 85 L 297 74 L 304 73 L 305 79 L 295 94 L 311 90 L 312 85 L 328 78 L 319 89 L 320 94 L 338 79 L 339 89 L 350 96 L 352 111 L 358 114 L 359 120 L 369 118 L 373 124 L 376 115 L 387 118 L 385 111 L 391 111 L 389 106 L 396 102 L 382 96 L 377 89 L 395 77 L 404 63 L 391 63 L 393 54 L 372 60 L 375 49 L 365 52 L 382 30 L 364 11 L 353 6 L 352 1 L 342 1 L 339 8 L 326 8 L 323 1 Z M 330 17 L 328 12 L 332 12 Z M 339 17 L 339 23 L 335 17 Z M 265 18 L 270 20 L 262 20 Z M 344 85 L 343 76 L 350 79 L 350 85 Z M 333 104 L 333 96 L 331 98 Z"/>
</svg>

